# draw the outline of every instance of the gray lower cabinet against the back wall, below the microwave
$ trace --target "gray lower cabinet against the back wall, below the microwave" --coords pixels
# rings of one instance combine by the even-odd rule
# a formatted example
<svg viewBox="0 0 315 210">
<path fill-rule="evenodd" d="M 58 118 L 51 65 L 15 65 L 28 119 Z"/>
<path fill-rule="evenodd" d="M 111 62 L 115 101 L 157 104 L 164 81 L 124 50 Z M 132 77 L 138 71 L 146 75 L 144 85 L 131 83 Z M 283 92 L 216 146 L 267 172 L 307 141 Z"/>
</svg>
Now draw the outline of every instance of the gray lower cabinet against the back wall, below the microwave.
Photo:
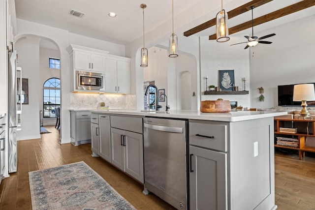
<svg viewBox="0 0 315 210">
<path fill-rule="evenodd" d="M 91 113 L 89 111 L 70 111 L 70 135 L 74 146 L 91 142 Z"/>
</svg>

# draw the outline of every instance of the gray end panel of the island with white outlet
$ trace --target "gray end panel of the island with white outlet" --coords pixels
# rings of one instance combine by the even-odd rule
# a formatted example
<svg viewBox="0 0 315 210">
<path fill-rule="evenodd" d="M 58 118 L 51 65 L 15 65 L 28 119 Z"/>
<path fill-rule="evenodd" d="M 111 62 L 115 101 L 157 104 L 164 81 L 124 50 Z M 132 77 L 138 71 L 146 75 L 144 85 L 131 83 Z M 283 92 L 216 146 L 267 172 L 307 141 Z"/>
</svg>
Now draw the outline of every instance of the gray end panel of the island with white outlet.
<svg viewBox="0 0 315 210">
<path fill-rule="evenodd" d="M 273 118 L 230 123 L 231 210 L 275 209 L 273 131 Z"/>
</svg>

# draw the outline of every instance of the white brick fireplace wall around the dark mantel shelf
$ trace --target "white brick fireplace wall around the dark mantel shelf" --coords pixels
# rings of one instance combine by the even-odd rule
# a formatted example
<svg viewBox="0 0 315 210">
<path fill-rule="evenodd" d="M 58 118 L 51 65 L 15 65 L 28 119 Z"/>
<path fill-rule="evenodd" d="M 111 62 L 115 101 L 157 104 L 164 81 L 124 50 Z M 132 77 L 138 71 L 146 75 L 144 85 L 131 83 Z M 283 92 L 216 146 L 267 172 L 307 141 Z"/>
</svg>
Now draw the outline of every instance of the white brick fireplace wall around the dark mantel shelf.
<svg viewBox="0 0 315 210">
<path fill-rule="evenodd" d="M 206 90 L 205 77 L 208 76 L 207 90 L 210 85 L 219 87 L 219 70 L 234 70 L 235 86 L 244 90 L 242 78 L 247 78 L 246 90 L 250 87 L 250 59 L 249 50 L 244 50 L 245 44 L 231 44 L 245 42 L 241 35 L 231 35 L 228 42 L 219 43 L 216 40 L 209 40 L 209 37 L 200 37 L 200 66 L 201 66 L 201 100 L 224 100 L 237 101 L 238 106 L 250 107 L 250 95 L 204 95 Z"/>
</svg>

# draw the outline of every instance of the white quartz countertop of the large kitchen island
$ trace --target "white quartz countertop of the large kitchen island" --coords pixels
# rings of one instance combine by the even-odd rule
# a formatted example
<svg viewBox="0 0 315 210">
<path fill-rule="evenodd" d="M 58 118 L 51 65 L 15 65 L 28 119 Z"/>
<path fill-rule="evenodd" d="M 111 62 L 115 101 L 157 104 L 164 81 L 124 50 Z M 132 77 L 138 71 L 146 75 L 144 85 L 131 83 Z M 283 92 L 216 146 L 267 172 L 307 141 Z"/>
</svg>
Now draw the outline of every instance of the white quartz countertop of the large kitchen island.
<svg viewBox="0 0 315 210">
<path fill-rule="evenodd" d="M 141 110 L 132 109 L 112 109 L 112 110 L 90 110 L 92 113 L 97 114 L 119 114 L 130 116 L 142 117 L 159 117 L 159 118 L 177 118 L 177 119 L 190 119 L 190 120 L 215 120 L 215 121 L 244 121 L 260 118 L 269 118 L 275 116 L 286 115 L 287 112 L 274 112 L 274 111 L 231 111 L 229 113 L 202 113 L 200 111 L 191 110 L 169 110 L 165 111 L 151 111 L 143 112 Z"/>
</svg>

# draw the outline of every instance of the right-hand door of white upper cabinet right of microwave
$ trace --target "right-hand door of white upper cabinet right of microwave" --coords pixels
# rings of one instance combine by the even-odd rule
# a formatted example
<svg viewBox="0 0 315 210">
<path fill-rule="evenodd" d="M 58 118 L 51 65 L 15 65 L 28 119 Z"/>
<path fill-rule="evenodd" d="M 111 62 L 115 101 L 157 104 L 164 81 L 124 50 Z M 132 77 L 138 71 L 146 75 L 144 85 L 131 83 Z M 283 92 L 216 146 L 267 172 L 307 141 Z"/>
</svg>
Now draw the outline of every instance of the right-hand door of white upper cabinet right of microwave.
<svg viewBox="0 0 315 210">
<path fill-rule="evenodd" d="M 130 63 L 122 60 L 117 60 L 117 86 L 118 93 L 130 92 Z"/>
</svg>

